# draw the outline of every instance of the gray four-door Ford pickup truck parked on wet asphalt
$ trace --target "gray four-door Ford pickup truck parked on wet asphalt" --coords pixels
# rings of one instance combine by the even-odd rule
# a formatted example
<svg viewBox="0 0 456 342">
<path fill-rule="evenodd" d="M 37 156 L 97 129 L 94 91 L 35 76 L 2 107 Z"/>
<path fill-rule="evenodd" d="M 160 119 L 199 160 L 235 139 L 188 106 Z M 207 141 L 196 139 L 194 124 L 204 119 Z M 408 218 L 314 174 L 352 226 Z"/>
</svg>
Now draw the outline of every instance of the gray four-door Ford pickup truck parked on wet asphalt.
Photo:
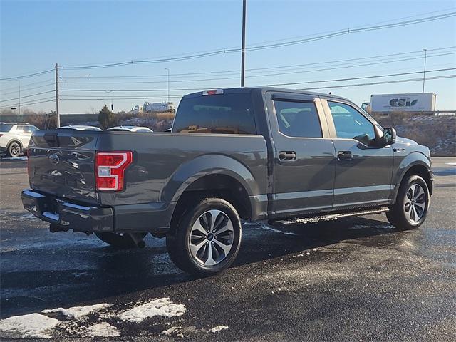
<svg viewBox="0 0 456 342">
<path fill-rule="evenodd" d="M 345 98 L 232 88 L 182 98 L 171 133 L 39 130 L 24 207 L 51 232 L 115 247 L 166 237 L 180 269 L 214 274 L 241 244 L 242 220 L 318 222 L 385 212 L 425 221 L 430 152 L 396 138 Z"/>
</svg>

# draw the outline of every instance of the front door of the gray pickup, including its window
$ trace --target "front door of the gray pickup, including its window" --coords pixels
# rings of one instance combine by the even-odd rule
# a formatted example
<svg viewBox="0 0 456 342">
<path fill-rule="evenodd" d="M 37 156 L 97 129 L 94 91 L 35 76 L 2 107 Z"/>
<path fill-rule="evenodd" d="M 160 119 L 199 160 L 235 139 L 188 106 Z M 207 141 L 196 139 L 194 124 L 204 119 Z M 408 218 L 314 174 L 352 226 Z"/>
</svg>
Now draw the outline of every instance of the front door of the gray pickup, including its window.
<svg viewBox="0 0 456 342">
<path fill-rule="evenodd" d="M 370 207 L 388 203 L 393 171 L 391 146 L 364 145 L 380 127 L 368 115 L 344 100 L 322 100 L 336 148 L 333 209 Z"/>
</svg>

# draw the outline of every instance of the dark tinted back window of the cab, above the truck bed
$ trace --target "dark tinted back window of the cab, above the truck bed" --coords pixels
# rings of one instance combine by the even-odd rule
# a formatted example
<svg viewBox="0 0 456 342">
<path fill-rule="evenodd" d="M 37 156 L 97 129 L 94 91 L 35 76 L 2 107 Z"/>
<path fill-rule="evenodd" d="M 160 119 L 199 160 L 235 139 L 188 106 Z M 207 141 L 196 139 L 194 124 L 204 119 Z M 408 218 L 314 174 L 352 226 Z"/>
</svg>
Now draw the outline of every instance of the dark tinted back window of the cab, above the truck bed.
<svg viewBox="0 0 456 342">
<path fill-rule="evenodd" d="M 257 134 L 249 94 L 217 94 L 184 98 L 172 132 Z"/>
</svg>

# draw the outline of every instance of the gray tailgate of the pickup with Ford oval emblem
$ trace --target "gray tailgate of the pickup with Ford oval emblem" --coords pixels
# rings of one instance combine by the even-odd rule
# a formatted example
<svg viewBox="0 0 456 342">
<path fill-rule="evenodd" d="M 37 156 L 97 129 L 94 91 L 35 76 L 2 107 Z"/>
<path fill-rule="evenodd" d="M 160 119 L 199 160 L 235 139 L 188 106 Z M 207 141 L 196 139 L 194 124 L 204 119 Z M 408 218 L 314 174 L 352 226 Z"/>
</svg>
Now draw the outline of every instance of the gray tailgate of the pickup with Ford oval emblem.
<svg viewBox="0 0 456 342">
<path fill-rule="evenodd" d="M 42 130 L 31 137 L 28 178 L 33 190 L 98 203 L 95 192 L 96 131 Z"/>
</svg>

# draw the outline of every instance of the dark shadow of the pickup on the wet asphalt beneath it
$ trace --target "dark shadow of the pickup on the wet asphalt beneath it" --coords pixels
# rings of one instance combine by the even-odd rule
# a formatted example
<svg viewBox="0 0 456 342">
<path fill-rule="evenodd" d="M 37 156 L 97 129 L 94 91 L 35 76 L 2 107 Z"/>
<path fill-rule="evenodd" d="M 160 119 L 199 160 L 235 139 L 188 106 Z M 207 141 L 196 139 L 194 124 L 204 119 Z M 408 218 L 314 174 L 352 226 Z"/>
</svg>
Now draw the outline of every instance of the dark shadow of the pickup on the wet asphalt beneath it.
<svg viewBox="0 0 456 342">
<path fill-rule="evenodd" d="M 378 237 L 389 242 L 394 239 L 391 237 L 394 234 L 390 234 L 393 232 L 395 229 L 389 224 L 366 218 L 287 226 L 286 230 L 266 224 L 245 224 L 237 261 L 224 271 L 222 278 L 233 270 L 242 272 L 243 265 L 291 256 L 343 240 Z M 187 281 L 198 279 L 172 264 L 163 239 L 147 238 L 145 249 L 124 250 L 100 247 L 101 242 L 96 240 L 82 241 L 88 246 L 70 243 L 63 249 L 43 247 L 41 251 L 32 251 L 37 255 L 31 257 L 40 260 L 36 269 L 27 266 L 27 271 L 21 271 L 17 266 L 14 271 L 2 271 L 1 317 L 86 301 L 106 301 L 111 296 L 134 296 L 136 291 L 143 290 L 150 290 L 150 296 L 162 296 L 167 286 L 185 286 Z M 27 262 L 22 259 L 24 251 L 6 254 L 6 259 L 14 258 L 18 264 Z M 155 294 L 157 288 L 163 288 L 159 294 Z"/>
</svg>

